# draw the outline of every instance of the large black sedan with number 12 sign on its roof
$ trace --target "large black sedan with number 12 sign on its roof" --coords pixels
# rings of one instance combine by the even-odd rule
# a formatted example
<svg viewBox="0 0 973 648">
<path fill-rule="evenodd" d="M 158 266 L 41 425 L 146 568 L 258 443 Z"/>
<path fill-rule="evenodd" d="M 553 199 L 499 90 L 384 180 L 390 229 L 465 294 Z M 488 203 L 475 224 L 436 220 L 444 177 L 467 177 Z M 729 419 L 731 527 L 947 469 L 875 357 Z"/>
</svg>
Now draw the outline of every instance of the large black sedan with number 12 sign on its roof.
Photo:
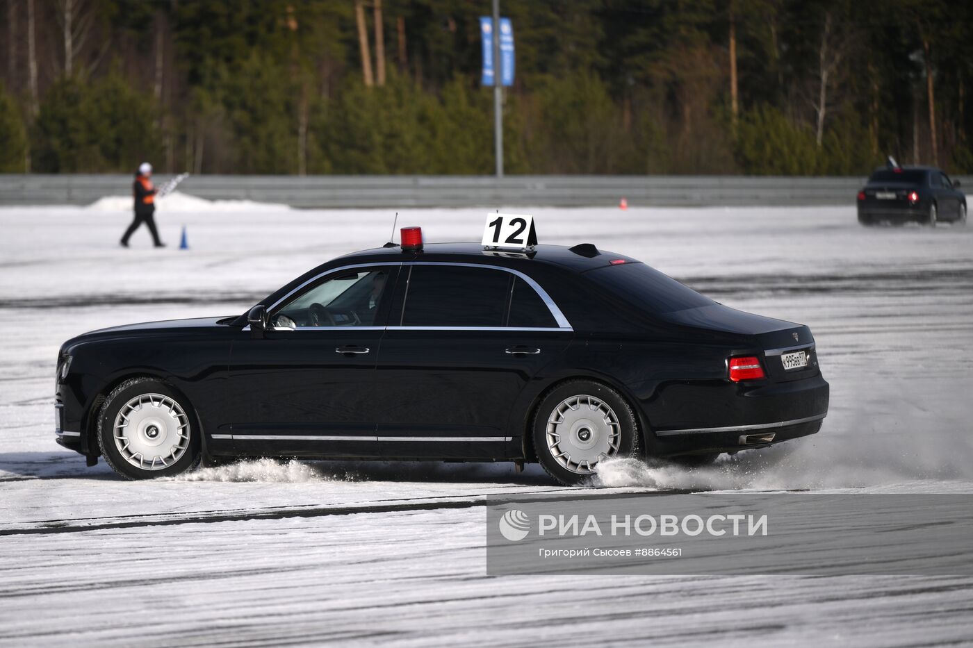
<svg viewBox="0 0 973 648">
<path fill-rule="evenodd" d="M 813 434 L 811 330 L 590 243 L 386 246 L 231 317 L 65 342 L 56 439 L 129 479 L 229 457 L 711 461 Z"/>
</svg>

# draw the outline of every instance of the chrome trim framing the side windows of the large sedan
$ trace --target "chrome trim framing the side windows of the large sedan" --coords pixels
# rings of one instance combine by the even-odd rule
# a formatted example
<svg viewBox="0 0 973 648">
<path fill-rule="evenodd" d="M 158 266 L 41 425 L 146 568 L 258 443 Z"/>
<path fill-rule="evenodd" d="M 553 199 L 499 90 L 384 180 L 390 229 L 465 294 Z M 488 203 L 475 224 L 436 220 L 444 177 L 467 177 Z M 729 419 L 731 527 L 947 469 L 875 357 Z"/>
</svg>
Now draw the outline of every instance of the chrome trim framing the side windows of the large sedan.
<svg viewBox="0 0 973 648">
<path fill-rule="evenodd" d="M 532 278 L 524 274 L 520 270 L 514 270 L 512 268 L 504 268 L 502 266 L 490 266 L 488 264 L 468 264 L 460 263 L 455 261 L 394 261 L 394 262 L 378 262 L 373 264 L 352 264 L 349 266 L 339 266 L 338 268 L 332 268 L 330 270 L 325 270 L 319 274 L 312 276 L 307 279 L 300 286 L 297 286 L 289 293 L 281 297 L 279 300 L 273 303 L 272 306 L 267 308 L 268 316 L 277 307 L 286 302 L 295 293 L 298 293 L 302 289 L 306 288 L 311 283 L 314 283 L 321 277 L 327 276 L 334 272 L 341 272 L 342 270 L 355 270 L 356 268 L 375 268 L 377 266 L 382 267 L 394 267 L 399 266 L 458 266 L 460 268 L 486 268 L 486 270 L 500 270 L 503 272 L 510 272 L 511 274 L 523 279 L 524 283 L 534 289 L 537 296 L 541 298 L 544 305 L 548 307 L 551 315 L 554 317 L 555 321 L 558 323 L 558 328 L 549 327 L 509 327 L 509 326 L 299 326 L 296 329 L 287 329 L 282 327 L 273 327 L 274 331 L 322 331 L 322 330 L 340 330 L 340 331 L 383 331 L 386 329 L 399 329 L 404 331 L 574 331 L 571 327 L 571 323 L 567 321 L 564 313 L 561 312 L 551 296 L 547 294 L 540 284 L 534 281 Z M 407 293 L 408 297 L 408 293 Z M 403 304 L 403 308 L 405 305 Z M 243 327 L 243 331 L 249 331 L 250 325 L 247 324 Z"/>
</svg>

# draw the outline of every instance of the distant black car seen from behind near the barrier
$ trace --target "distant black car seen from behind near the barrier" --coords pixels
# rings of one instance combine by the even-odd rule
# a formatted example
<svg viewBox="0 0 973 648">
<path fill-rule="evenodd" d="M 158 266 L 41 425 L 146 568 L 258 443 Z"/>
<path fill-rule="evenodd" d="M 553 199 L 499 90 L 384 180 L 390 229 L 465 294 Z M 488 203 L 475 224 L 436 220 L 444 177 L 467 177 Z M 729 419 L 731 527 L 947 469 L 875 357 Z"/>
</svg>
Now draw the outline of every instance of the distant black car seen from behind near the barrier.
<svg viewBox="0 0 973 648">
<path fill-rule="evenodd" d="M 966 196 L 959 182 L 933 166 L 890 166 L 872 174 L 858 192 L 858 222 L 900 225 L 915 221 L 966 222 Z"/>
</svg>

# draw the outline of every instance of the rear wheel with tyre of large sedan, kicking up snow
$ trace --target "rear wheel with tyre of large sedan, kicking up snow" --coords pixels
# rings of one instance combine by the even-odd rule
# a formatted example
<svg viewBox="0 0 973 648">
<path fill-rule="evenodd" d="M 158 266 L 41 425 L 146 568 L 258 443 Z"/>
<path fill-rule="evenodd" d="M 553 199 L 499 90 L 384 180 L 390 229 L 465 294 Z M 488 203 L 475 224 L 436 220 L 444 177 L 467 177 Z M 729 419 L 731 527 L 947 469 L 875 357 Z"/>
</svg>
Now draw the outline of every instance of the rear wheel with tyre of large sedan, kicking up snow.
<svg viewBox="0 0 973 648">
<path fill-rule="evenodd" d="M 580 484 L 598 463 L 638 451 L 638 425 L 614 389 L 571 380 L 550 391 L 534 414 L 534 449 L 544 470 L 561 484 Z"/>
</svg>

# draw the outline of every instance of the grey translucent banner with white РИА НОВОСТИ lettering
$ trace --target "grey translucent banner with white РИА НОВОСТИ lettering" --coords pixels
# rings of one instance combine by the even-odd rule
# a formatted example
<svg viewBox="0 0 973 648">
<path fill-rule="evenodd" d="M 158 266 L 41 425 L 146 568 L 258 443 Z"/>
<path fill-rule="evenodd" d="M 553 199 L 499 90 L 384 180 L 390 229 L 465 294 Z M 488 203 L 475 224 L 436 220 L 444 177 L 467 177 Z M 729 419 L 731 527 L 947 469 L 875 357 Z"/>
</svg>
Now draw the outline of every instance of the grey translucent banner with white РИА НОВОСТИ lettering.
<svg viewBox="0 0 973 648">
<path fill-rule="evenodd" d="M 490 574 L 973 574 L 973 495 L 672 494 L 487 509 Z"/>
</svg>

